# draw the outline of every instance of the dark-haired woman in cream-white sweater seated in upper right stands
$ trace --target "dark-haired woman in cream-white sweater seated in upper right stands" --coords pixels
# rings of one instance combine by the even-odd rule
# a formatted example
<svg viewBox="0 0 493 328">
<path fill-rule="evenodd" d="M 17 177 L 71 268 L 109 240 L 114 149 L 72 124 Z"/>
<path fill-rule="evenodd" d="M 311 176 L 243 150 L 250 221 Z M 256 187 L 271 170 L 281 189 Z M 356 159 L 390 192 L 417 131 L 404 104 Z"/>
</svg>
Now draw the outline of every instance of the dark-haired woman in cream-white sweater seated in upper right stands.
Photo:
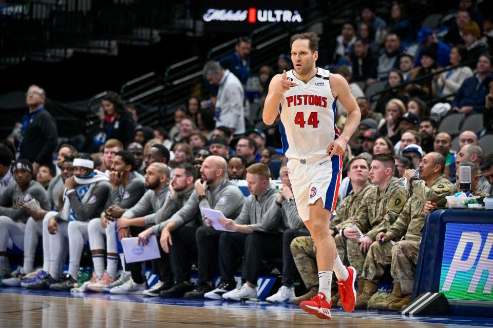
<svg viewBox="0 0 493 328">
<path fill-rule="evenodd" d="M 452 66 L 462 65 L 467 59 L 467 49 L 463 45 L 454 46 L 450 49 L 450 64 Z M 467 66 L 457 67 L 440 75 L 433 75 L 433 95 L 437 98 L 447 97 L 447 100 L 452 100 L 453 95 L 459 90 L 464 80 L 471 76 L 472 71 Z"/>
</svg>

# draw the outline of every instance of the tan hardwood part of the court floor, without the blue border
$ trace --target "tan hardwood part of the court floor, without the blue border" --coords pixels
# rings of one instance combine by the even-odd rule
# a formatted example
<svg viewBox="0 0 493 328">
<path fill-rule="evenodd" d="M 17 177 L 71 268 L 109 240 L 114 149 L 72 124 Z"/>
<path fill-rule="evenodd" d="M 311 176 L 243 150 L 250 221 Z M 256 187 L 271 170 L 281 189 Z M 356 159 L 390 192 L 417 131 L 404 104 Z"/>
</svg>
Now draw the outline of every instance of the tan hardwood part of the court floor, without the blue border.
<svg viewBox="0 0 493 328">
<path fill-rule="evenodd" d="M 423 327 L 428 323 L 400 316 L 334 311 L 332 320 L 320 320 L 283 305 L 204 302 L 204 307 L 0 293 L 0 327 Z M 396 321 L 397 320 L 397 321 Z M 433 327 L 450 326 L 430 323 Z"/>
</svg>

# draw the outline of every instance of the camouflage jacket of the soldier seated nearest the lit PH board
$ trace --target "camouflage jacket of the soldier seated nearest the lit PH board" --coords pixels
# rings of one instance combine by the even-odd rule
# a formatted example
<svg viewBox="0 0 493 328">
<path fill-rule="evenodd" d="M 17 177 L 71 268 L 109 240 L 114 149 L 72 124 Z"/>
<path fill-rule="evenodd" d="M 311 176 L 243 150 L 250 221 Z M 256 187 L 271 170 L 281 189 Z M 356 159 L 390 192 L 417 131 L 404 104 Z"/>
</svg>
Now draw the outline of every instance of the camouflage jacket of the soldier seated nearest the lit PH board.
<svg viewBox="0 0 493 328">
<path fill-rule="evenodd" d="M 447 199 L 457 192 L 456 186 L 448 179 L 439 177 L 428 188 L 425 181 L 414 180 L 410 184 L 412 195 L 404 206 L 404 210 L 399 218 L 389 224 L 386 234 L 390 239 L 400 239 L 405 236 L 406 240 L 420 240 L 422 236 L 421 228 L 425 224 L 425 214 L 423 208 L 426 201 L 437 204 L 437 207 L 445 207 Z"/>
</svg>

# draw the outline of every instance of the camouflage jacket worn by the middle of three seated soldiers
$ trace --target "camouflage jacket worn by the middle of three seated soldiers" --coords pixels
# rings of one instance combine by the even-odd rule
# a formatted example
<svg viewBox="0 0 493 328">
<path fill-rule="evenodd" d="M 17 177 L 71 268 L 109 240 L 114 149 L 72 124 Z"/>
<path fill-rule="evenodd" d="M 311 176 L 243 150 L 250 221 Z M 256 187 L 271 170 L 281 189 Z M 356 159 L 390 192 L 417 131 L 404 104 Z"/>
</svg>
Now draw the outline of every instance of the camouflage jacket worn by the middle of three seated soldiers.
<svg viewBox="0 0 493 328">
<path fill-rule="evenodd" d="M 380 193 L 376 186 L 371 189 L 362 200 L 356 216 L 345 224 L 344 228 L 349 228 L 354 223 L 365 236 L 375 240 L 378 224 L 384 220 L 393 223 L 402 212 L 408 198 L 408 191 L 399 187 L 398 179 L 392 177 L 383 193 Z"/>
</svg>

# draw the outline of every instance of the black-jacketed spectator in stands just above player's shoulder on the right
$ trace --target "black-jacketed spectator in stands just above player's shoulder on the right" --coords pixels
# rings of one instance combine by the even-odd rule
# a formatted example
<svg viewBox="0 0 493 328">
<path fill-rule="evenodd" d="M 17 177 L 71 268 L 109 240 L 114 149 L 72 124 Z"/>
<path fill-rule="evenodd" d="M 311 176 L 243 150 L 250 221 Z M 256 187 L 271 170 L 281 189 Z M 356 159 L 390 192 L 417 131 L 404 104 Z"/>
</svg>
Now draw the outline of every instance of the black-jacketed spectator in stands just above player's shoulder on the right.
<svg viewBox="0 0 493 328">
<path fill-rule="evenodd" d="M 376 82 L 378 59 L 369 51 L 366 41 L 362 39 L 356 40 L 351 62 L 353 63 L 353 78 L 355 81 L 364 81 L 366 85 Z"/>
</svg>

